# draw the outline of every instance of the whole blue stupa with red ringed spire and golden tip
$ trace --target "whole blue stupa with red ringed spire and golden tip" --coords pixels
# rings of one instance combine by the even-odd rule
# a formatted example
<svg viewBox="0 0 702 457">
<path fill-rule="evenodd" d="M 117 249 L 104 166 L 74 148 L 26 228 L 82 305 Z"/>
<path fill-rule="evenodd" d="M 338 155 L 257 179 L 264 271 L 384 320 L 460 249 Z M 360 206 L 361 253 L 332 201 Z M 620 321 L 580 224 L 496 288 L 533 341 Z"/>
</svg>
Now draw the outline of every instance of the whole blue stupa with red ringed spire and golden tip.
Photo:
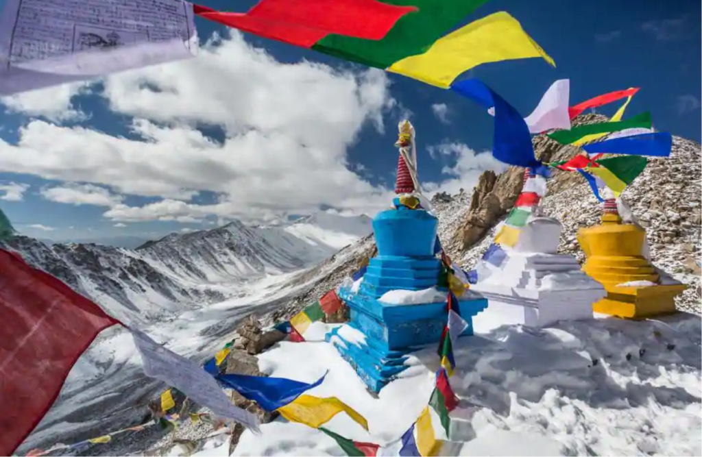
<svg viewBox="0 0 702 457">
<path fill-rule="evenodd" d="M 436 256 L 438 220 L 418 206 L 418 199 L 412 195 L 416 173 L 409 173 L 405 160 L 416 164 L 409 121 L 400 123 L 399 137 L 401 154 L 395 188 L 399 196 L 395 208 L 373 219 L 378 255 L 369 260 L 360 286 L 356 283 L 340 288 L 339 296 L 350 308 L 350 322 L 326 336 L 373 392 L 380 392 L 407 368 L 404 362 L 410 352 L 437 344 L 447 319 L 448 289 L 439 285 L 443 266 Z M 432 288 L 436 289 L 434 293 L 421 295 L 430 303 L 380 300 L 390 291 Z M 472 316 L 486 307 L 487 300 L 477 293 L 466 291 L 458 298 L 458 309 L 469 324 L 462 336 L 472 335 Z M 358 338 L 359 332 L 362 338 Z"/>
</svg>

